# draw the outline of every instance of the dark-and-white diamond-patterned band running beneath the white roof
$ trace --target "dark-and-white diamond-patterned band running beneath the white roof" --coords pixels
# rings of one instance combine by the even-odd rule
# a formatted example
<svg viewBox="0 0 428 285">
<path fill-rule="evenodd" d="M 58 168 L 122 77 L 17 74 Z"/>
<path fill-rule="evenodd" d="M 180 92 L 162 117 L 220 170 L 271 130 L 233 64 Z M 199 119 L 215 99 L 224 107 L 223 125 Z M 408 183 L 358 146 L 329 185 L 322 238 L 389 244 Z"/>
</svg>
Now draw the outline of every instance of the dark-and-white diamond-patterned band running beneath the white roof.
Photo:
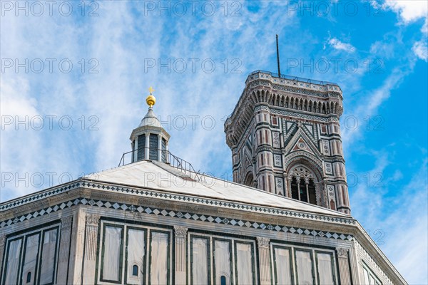
<svg viewBox="0 0 428 285">
<path fill-rule="evenodd" d="M 83 192 L 81 192 L 83 193 Z M 276 219 L 267 218 L 267 214 L 238 214 L 238 210 L 235 210 L 235 215 L 230 215 L 230 212 L 213 212 L 208 213 L 207 208 L 215 208 L 213 207 L 203 207 L 201 205 L 192 205 L 185 204 L 185 207 L 174 207 L 174 203 L 167 203 L 165 201 L 153 203 L 153 199 L 142 199 L 139 202 L 143 202 L 142 204 L 129 204 L 127 202 L 119 202 L 116 200 L 108 201 L 106 199 L 99 199 L 97 196 L 103 196 L 101 190 L 97 190 L 96 193 L 91 193 L 93 198 L 91 197 L 78 197 L 73 200 L 63 201 L 59 204 L 44 208 L 44 209 L 34 209 L 34 211 L 23 214 L 21 217 L 15 217 L 14 219 L 9 219 L 6 221 L 0 222 L 0 229 L 6 229 L 11 224 L 19 224 L 20 222 L 24 222 L 29 219 L 34 219 L 36 217 L 46 216 L 47 214 L 61 211 L 62 209 L 73 208 L 77 206 L 85 206 L 85 207 L 93 207 L 98 209 L 112 209 L 117 210 L 118 212 L 135 212 L 136 214 L 150 214 L 156 215 L 160 217 L 170 217 L 175 219 L 187 219 L 189 221 L 198 221 L 198 222 L 207 222 L 211 224 L 223 224 L 223 225 L 231 225 L 236 227 L 236 230 L 239 229 L 260 229 L 264 231 L 271 232 L 282 232 L 286 234 L 297 234 L 302 236 L 314 237 L 314 238 L 322 238 L 322 239 L 336 239 L 342 241 L 352 241 L 353 237 L 351 234 L 345 234 L 341 231 L 332 231 L 329 229 L 325 222 L 310 222 L 307 223 L 289 223 L 285 224 L 290 219 L 280 219 L 280 217 L 275 217 Z M 152 201 L 151 201 L 152 200 Z M 183 202 L 181 202 L 183 203 Z M 240 212 L 240 211 L 239 211 Z M 86 224 L 96 224 L 99 217 L 100 212 L 97 210 L 98 214 L 92 214 L 87 216 Z M 235 217 L 233 217 L 235 216 Z M 262 216 L 265 216 L 263 219 Z M 245 217 L 253 217 L 253 219 L 244 219 Z M 272 217 L 272 216 L 270 216 Z M 291 217 L 290 217 L 291 218 Z M 295 213 L 295 219 L 303 219 L 302 216 Z M 264 222 L 263 222 L 264 220 Z M 280 222 L 278 224 L 274 222 Z M 305 222 L 305 221 L 302 221 Z M 313 224 L 312 224 L 313 223 Z M 305 226 L 308 227 L 302 227 Z M 321 226 L 325 224 L 327 227 L 323 227 L 323 229 L 314 229 L 310 227 L 314 224 L 318 224 Z M 335 227 L 335 224 L 331 224 L 332 228 Z M 337 227 L 337 229 L 345 229 L 342 227 Z"/>
</svg>

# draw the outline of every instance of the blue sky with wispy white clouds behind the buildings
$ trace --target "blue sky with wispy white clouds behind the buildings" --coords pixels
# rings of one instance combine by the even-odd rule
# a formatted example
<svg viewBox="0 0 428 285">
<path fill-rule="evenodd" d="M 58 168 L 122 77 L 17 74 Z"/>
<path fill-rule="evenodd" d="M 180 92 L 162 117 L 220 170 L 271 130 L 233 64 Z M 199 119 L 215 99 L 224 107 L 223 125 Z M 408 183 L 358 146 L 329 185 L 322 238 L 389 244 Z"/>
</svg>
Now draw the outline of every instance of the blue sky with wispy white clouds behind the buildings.
<svg viewBox="0 0 428 285">
<path fill-rule="evenodd" d="M 352 215 L 428 283 L 426 1 L 16 3 L 1 1 L 1 201 L 116 167 L 149 86 L 171 152 L 230 178 L 223 122 L 248 73 L 276 71 L 277 33 L 283 74 L 342 88 Z"/>
</svg>

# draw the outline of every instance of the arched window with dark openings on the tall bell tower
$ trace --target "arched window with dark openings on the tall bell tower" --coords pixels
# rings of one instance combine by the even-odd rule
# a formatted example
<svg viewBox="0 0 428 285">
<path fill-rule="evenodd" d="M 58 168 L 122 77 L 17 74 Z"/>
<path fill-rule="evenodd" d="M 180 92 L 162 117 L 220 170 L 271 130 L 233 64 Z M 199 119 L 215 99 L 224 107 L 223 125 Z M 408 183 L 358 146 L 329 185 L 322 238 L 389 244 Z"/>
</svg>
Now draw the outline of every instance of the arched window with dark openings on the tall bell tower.
<svg viewBox="0 0 428 285">
<path fill-rule="evenodd" d="M 303 166 L 293 167 L 290 175 L 292 178 L 289 187 L 292 199 L 317 204 L 315 175 Z"/>
</svg>

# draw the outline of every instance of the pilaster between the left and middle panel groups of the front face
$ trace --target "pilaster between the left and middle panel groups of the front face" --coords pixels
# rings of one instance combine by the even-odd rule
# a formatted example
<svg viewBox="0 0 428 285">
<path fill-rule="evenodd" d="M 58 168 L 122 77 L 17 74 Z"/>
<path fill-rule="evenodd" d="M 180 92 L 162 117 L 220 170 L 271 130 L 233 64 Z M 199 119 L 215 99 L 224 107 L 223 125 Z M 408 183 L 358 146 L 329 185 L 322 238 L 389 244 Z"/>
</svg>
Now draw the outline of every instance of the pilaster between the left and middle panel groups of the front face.
<svg viewBox="0 0 428 285">
<path fill-rule="evenodd" d="M 175 284 L 185 284 L 187 227 L 174 227 L 175 232 Z"/>
</svg>

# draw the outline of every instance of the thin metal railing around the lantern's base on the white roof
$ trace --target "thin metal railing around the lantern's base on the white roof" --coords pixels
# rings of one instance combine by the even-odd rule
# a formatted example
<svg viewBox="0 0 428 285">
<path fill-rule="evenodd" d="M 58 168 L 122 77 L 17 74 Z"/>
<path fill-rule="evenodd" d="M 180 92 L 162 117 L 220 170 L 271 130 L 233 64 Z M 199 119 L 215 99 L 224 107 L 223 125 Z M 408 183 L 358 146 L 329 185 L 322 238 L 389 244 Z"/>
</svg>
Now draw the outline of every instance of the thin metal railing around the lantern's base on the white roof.
<svg viewBox="0 0 428 285">
<path fill-rule="evenodd" d="M 146 157 L 146 154 L 147 154 L 146 150 L 148 150 L 148 157 Z M 156 152 L 153 152 L 155 150 L 156 150 Z M 138 151 L 140 152 L 141 157 L 138 157 Z M 129 165 L 133 162 L 137 162 L 137 161 L 141 161 L 141 160 L 156 160 L 156 161 L 158 161 L 159 152 L 161 152 L 161 160 L 159 160 L 159 161 L 164 162 L 164 163 L 180 170 L 185 175 L 189 175 L 189 177 L 191 174 L 194 174 L 195 178 L 198 181 L 201 180 L 200 172 L 199 171 L 197 172 L 195 170 L 195 168 L 193 168 L 193 165 L 190 162 L 183 160 L 182 158 L 180 158 L 178 156 L 173 155 L 169 150 L 160 150 L 158 148 L 141 147 L 138 150 L 131 150 L 129 152 L 124 152 L 118 166 Z"/>
</svg>

